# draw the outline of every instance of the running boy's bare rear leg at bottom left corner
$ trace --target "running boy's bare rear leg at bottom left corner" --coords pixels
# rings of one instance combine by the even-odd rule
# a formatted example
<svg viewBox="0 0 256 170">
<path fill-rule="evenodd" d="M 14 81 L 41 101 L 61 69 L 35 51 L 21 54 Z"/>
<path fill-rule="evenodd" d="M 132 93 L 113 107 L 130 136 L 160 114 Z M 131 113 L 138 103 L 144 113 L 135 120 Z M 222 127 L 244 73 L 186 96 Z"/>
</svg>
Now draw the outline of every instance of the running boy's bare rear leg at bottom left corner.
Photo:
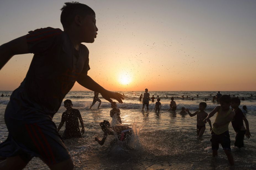
<svg viewBox="0 0 256 170">
<path fill-rule="evenodd" d="M 13 170 L 23 169 L 27 163 L 25 163 L 20 156 L 8 157 L 0 162 L 0 169 Z"/>
</svg>

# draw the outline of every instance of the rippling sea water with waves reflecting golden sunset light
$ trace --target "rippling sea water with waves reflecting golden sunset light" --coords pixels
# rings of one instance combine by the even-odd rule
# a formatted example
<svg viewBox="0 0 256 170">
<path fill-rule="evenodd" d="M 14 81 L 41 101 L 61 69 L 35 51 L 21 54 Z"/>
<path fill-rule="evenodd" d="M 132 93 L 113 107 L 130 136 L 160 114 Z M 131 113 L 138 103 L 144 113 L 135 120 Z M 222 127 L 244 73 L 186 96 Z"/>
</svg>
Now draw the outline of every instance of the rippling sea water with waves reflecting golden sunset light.
<svg viewBox="0 0 256 170">
<path fill-rule="evenodd" d="M 11 95 L 12 91 L 0 91 L 4 95 Z M 199 103 L 208 100 L 206 112 L 210 113 L 217 102 L 212 102 L 212 91 L 149 91 L 155 99 L 159 95 L 162 103 L 160 113 L 154 112 L 155 102 L 149 102 L 149 112 L 141 112 L 142 102 L 139 101 L 139 95 L 143 91 L 121 91 L 125 94 L 123 104 L 118 103 L 117 108 L 121 111 L 121 119 L 124 125 L 133 127 L 137 135 L 133 140 L 133 149 L 126 149 L 122 144 L 112 144 L 114 136 L 109 135 L 103 146 L 94 141 L 95 136 L 100 139 L 103 132 L 99 123 L 104 119 L 111 121 L 110 103 L 102 100 L 102 104 L 97 109 L 98 102 L 89 110 L 93 101 L 94 93 L 91 91 L 70 91 L 65 99 L 73 102 L 73 108 L 79 109 L 85 125 L 85 133 L 82 138 L 72 138 L 64 140 L 75 169 L 229 169 L 228 160 L 222 147 L 218 151 L 218 157 L 212 158 L 210 127 L 206 124 L 206 130 L 202 139 L 196 136 L 196 116 L 190 117 L 188 114 L 179 114 L 181 107 L 189 108 L 191 113 L 198 110 Z M 197 98 L 196 95 L 199 95 Z M 241 150 L 234 147 L 235 132 L 231 123 L 229 124 L 229 133 L 231 139 L 231 150 L 234 157 L 236 169 L 256 169 L 256 92 L 221 92 L 221 94 L 230 94 L 244 97 L 241 101 L 241 107 L 246 105 L 248 113 L 246 115 L 249 121 L 250 139 L 244 138 L 245 148 Z M 251 97 L 251 94 L 253 96 Z M 166 97 L 167 95 L 167 97 Z M 181 95 L 185 96 L 182 100 Z M 186 98 L 186 95 L 189 98 Z M 170 98 L 174 97 L 177 103 L 176 112 L 168 111 L 170 108 Z M 194 100 L 191 100 L 191 98 Z M 64 99 L 64 100 L 65 100 Z M 0 97 L 0 143 L 8 135 L 4 123 L 4 110 L 9 97 Z M 65 111 L 62 103 L 58 112 L 54 115 L 53 121 L 57 127 L 61 120 L 61 115 Z M 215 116 L 211 118 L 212 124 Z M 81 126 L 80 126 L 81 127 Z M 65 125 L 61 128 L 62 135 Z M 39 159 L 33 158 L 25 169 L 47 169 L 47 166 Z"/>
</svg>

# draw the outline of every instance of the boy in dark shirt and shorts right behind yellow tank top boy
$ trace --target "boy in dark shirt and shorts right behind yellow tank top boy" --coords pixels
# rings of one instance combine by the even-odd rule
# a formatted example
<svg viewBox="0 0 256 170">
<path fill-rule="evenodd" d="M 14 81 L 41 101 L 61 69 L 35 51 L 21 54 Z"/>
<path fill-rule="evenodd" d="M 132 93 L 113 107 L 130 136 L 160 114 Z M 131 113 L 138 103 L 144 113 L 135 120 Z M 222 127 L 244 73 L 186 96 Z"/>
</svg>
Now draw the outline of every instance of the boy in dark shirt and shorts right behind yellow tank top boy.
<svg viewBox="0 0 256 170">
<path fill-rule="evenodd" d="M 248 120 L 244 116 L 242 110 L 239 108 L 240 103 L 241 101 L 239 98 L 231 98 L 231 108 L 233 108 L 233 111 L 236 113 L 231 121 L 232 126 L 236 132 L 236 141 L 234 146 L 239 148 L 244 147 L 244 135 L 246 135 L 247 138 L 252 136 L 250 134 Z M 246 128 L 244 127 L 243 120 L 245 122 Z"/>
</svg>

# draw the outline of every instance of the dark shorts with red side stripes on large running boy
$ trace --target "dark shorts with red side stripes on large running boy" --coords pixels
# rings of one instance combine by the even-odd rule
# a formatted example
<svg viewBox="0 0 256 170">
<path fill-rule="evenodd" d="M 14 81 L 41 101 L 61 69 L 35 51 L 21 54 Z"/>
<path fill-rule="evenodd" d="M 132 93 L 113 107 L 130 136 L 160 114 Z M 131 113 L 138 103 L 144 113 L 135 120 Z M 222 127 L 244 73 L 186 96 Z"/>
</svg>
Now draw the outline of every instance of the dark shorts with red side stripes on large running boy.
<svg viewBox="0 0 256 170">
<path fill-rule="evenodd" d="M 69 159 L 51 116 L 16 105 L 18 102 L 10 101 L 6 107 L 4 118 L 9 134 L 0 144 L 0 156 L 20 156 L 25 163 L 39 157 L 47 164 Z"/>
</svg>

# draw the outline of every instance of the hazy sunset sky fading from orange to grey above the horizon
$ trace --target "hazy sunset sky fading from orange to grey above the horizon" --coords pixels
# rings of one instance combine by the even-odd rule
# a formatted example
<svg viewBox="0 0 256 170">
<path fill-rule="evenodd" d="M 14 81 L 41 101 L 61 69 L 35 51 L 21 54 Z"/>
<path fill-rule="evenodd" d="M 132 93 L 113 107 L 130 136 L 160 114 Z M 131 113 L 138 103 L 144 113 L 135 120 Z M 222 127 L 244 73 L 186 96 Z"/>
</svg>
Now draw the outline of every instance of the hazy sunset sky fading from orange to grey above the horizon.
<svg viewBox="0 0 256 170">
<path fill-rule="evenodd" d="M 37 28 L 62 29 L 64 2 L 1 2 L 0 44 Z M 256 91 L 256 2 L 231 2 L 88 1 L 99 28 L 85 44 L 88 75 L 113 91 Z M 0 90 L 19 86 L 32 57 L 10 59 Z"/>
</svg>

